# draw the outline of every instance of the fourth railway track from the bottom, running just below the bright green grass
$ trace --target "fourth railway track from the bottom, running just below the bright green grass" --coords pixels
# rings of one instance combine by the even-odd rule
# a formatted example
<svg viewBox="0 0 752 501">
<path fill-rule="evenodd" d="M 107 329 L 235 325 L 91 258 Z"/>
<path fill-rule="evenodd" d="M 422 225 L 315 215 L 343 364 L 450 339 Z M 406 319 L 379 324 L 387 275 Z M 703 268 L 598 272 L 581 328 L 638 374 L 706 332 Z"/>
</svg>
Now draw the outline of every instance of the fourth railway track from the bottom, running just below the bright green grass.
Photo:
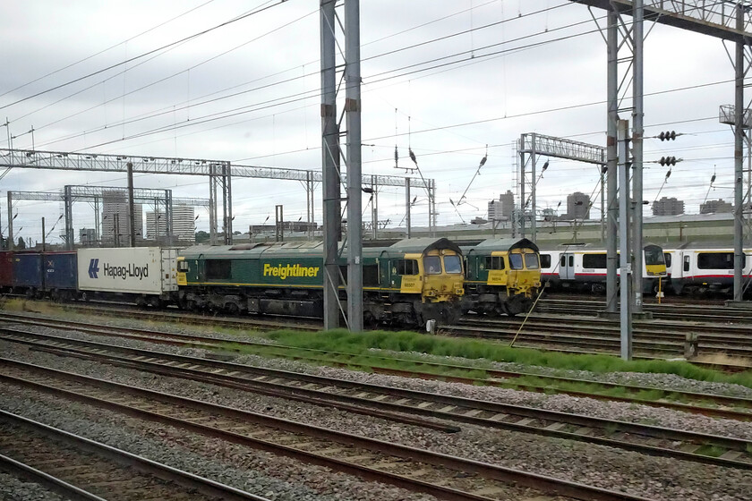
<svg viewBox="0 0 752 501">
<path fill-rule="evenodd" d="M 363 353 L 346 353 L 346 352 L 323 352 L 314 349 L 303 349 L 293 346 L 284 346 L 279 344 L 265 344 L 249 340 L 234 339 L 231 344 L 225 340 L 217 339 L 202 335 L 185 335 L 185 334 L 167 334 L 154 330 L 133 329 L 126 327 L 97 326 L 90 323 L 59 321 L 49 318 L 23 318 L 18 314 L 6 315 L 0 313 L 0 318 L 6 318 L 11 321 L 20 321 L 27 325 L 38 325 L 41 327 L 51 327 L 64 330 L 75 330 L 85 332 L 90 335 L 102 335 L 110 337 L 120 337 L 124 339 L 133 339 L 156 344 L 171 344 L 177 346 L 192 346 L 214 351 L 223 351 L 233 349 L 234 347 L 244 347 L 252 352 L 275 356 L 278 358 L 288 358 L 293 360 L 305 360 L 314 363 L 337 365 L 340 367 L 360 366 L 363 369 L 373 370 L 385 374 L 394 374 L 411 378 L 437 378 L 465 383 L 468 385 L 489 385 L 514 387 L 526 391 L 540 393 L 562 393 L 574 396 L 583 396 L 601 400 L 612 400 L 628 403 L 642 403 L 657 407 L 667 407 L 683 412 L 693 412 L 705 414 L 708 416 L 722 417 L 733 420 L 752 420 L 752 400 L 740 397 L 731 397 L 723 395 L 710 395 L 693 392 L 666 391 L 662 388 L 651 386 L 630 386 L 615 383 L 604 383 L 600 381 L 586 380 L 581 378 L 564 378 L 558 376 L 545 376 L 524 371 L 500 370 L 490 368 L 478 368 L 473 366 L 462 366 L 448 363 L 438 363 L 431 361 L 400 360 L 395 357 L 385 357 L 377 354 L 364 355 Z M 24 338 L 37 336 L 38 338 L 47 338 L 54 342 L 63 344 L 86 344 L 88 342 L 77 342 L 64 337 L 51 335 L 33 335 L 29 332 L 10 327 L 0 327 L 0 333 L 6 339 L 15 339 L 23 342 Z M 106 345 L 110 346 L 110 345 Z M 109 349 L 115 349 L 111 347 Z M 127 351 L 126 348 L 119 348 Z M 140 353 L 143 354 L 143 353 Z M 370 362 L 365 361 L 370 360 Z M 403 361 L 419 365 L 419 369 L 393 369 L 390 362 Z M 451 371 L 452 376 L 446 376 Z M 462 376 L 465 373 L 477 373 L 483 371 L 485 378 Z M 519 380 L 516 382 L 515 380 Z M 583 389 L 575 390 L 569 386 L 577 386 Z M 612 395 L 610 392 L 618 390 L 619 395 Z M 626 395 L 624 395 L 626 394 Z M 645 399 L 640 395 L 651 395 L 653 400 Z M 671 397 L 672 400 L 669 400 Z M 688 402 L 688 403 L 685 403 Z"/>
</svg>

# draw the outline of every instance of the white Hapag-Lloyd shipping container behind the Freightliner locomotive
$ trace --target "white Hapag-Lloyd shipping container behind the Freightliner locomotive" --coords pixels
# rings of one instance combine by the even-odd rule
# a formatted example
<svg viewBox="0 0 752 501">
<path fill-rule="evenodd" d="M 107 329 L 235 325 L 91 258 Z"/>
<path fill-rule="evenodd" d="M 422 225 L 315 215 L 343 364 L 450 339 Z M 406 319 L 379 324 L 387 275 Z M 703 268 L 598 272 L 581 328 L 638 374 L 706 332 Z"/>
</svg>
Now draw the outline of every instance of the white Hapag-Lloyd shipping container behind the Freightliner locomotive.
<svg viewBox="0 0 752 501">
<path fill-rule="evenodd" d="M 177 250 L 159 247 L 78 250 L 81 291 L 161 294 L 177 290 Z"/>
</svg>

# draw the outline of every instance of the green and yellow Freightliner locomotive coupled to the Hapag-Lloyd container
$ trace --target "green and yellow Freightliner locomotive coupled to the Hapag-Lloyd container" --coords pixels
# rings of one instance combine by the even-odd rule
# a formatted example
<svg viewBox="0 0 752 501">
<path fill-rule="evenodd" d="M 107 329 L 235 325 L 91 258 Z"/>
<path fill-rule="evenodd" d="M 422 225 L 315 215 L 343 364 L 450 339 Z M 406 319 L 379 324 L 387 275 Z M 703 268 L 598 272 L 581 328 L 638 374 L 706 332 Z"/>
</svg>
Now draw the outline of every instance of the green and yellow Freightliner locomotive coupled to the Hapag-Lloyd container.
<svg viewBox="0 0 752 501">
<path fill-rule="evenodd" d="M 346 276 L 346 251 L 339 266 Z M 321 242 L 197 246 L 177 262 L 180 305 L 188 310 L 293 315 L 323 313 Z M 421 326 L 461 314 L 462 251 L 445 238 L 407 239 L 363 248 L 363 321 Z M 346 310 L 345 287 L 339 287 Z"/>
</svg>

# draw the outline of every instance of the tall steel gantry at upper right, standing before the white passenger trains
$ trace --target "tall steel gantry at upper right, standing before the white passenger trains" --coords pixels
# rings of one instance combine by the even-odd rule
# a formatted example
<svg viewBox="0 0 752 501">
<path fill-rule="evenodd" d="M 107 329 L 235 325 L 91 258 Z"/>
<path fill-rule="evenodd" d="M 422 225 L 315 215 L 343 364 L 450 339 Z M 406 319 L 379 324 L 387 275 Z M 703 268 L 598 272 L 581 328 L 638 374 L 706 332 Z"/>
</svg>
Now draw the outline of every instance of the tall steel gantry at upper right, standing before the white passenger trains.
<svg viewBox="0 0 752 501">
<path fill-rule="evenodd" d="M 721 0 L 707 2 L 705 0 L 570 0 L 590 7 L 598 7 L 607 11 L 608 21 L 606 29 L 606 46 L 608 49 L 608 111 L 607 111 L 607 149 L 608 169 L 613 172 L 617 166 L 617 123 L 619 112 L 632 112 L 632 158 L 633 193 L 632 207 L 635 225 L 633 232 L 634 269 L 633 285 L 635 286 L 636 311 L 641 310 L 641 270 L 642 263 L 642 166 L 643 166 L 643 41 L 645 21 L 654 21 L 683 30 L 708 35 L 714 38 L 731 41 L 735 44 L 735 53 L 731 63 L 735 70 L 735 111 L 734 111 L 734 300 L 741 301 L 742 267 L 743 267 L 743 140 L 744 140 L 744 80 L 748 73 L 752 57 L 750 44 L 752 25 L 750 7 L 752 3 L 746 1 Z M 631 22 L 628 18 L 632 18 Z M 594 16 L 595 19 L 595 16 Z M 620 57 L 620 50 L 629 55 Z M 621 66 L 620 66 L 621 64 Z M 631 69 L 632 73 L 632 103 L 630 107 L 620 107 L 620 67 Z M 610 176 L 611 177 L 611 176 Z M 611 183 L 609 183 L 611 189 Z M 615 187 L 614 187 L 615 191 Z M 611 210 L 611 191 L 610 191 Z M 613 239 L 613 245 L 611 245 Z M 611 232 L 609 225 L 609 272 L 607 295 L 608 308 L 616 308 L 616 272 L 612 269 L 615 255 L 611 256 L 612 248 L 615 252 L 615 229 Z"/>
</svg>

